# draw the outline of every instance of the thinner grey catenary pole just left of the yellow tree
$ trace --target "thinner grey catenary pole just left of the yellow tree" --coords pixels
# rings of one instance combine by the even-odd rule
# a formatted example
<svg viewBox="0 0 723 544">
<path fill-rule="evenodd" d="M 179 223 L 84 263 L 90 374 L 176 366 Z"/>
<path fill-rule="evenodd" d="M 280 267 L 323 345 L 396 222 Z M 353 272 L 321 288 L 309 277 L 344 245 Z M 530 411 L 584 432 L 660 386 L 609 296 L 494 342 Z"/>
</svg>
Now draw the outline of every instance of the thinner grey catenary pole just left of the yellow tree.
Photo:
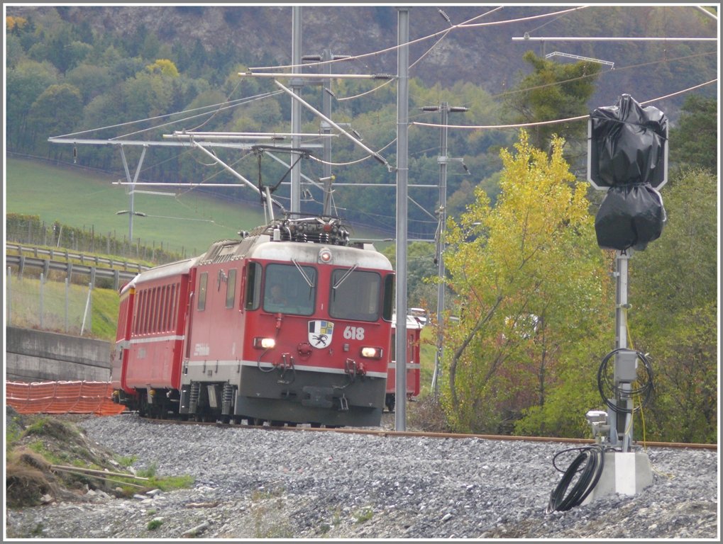
<svg viewBox="0 0 723 544">
<path fill-rule="evenodd" d="M 434 391 L 435 398 L 440 394 L 440 369 L 442 365 L 442 341 L 443 329 L 442 329 L 442 314 L 445 311 L 445 262 L 442 259 L 442 252 L 444 251 L 444 232 L 446 213 L 445 209 L 447 206 L 447 119 L 449 112 L 449 105 L 447 102 L 442 102 L 442 119 L 440 124 L 440 232 L 437 237 L 437 276 L 439 277 L 440 283 L 437 284 L 437 351 L 435 353 L 435 373 L 432 374 L 432 390 Z"/>
</svg>

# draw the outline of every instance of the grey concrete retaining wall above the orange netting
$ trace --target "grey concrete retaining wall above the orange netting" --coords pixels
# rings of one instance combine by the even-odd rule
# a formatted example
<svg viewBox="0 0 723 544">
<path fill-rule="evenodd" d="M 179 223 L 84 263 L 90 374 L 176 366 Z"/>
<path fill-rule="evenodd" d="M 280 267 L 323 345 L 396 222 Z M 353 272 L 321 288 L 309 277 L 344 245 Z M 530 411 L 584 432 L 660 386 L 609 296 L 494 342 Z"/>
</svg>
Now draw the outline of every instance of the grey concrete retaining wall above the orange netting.
<svg viewBox="0 0 723 544">
<path fill-rule="evenodd" d="M 5 380 L 111 380 L 111 343 L 43 330 L 6 327 Z"/>
</svg>

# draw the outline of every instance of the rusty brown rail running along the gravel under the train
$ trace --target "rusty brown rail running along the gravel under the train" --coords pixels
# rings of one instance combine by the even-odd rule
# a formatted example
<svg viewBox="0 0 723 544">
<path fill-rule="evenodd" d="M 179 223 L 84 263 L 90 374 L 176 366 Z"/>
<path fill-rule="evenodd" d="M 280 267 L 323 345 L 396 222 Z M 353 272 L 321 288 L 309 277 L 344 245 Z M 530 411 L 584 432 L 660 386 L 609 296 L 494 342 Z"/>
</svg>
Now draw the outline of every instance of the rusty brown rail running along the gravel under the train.
<svg viewBox="0 0 723 544">
<path fill-rule="evenodd" d="M 142 416 L 141 416 L 142 417 Z M 179 419 L 154 419 L 142 417 L 144 421 L 150 421 L 155 424 L 174 424 L 174 425 L 205 425 L 216 427 L 245 428 L 245 429 L 265 429 L 268 431 L 296 431 L 296 432 L 332 432 L 343 434 L 367 434 L 373 436 L 388 436 L 390 438 L 398 436 L 412 436 L 420 438 L 440 438 L 440 439 L 465 439 L 478 438 L 484 440 L 505 440 L 505 441 L 524 441 L 524 442 L 560 442 L 569 444 L 594 444 L 593 439 L 584 438 L 563 438 L 549 436 L 513 436 L 508 434 L 462 434 L 462 433 L 442 433 L 430 431 L 395 431 L 386 428 L 369 428 L 369 427 L 312 427 L 308 424 L 297 426 L 266 426 L 266 425 L 245 425 L 245 424 L 224 424 L 220 421 L 181 421 Z M 690 444 L 685 442 L 635 442 L 636 446 L 641 447 L 664 447 L 676 449 L 710 449 L 717 451 L 717 444 Z"/>
</svg>

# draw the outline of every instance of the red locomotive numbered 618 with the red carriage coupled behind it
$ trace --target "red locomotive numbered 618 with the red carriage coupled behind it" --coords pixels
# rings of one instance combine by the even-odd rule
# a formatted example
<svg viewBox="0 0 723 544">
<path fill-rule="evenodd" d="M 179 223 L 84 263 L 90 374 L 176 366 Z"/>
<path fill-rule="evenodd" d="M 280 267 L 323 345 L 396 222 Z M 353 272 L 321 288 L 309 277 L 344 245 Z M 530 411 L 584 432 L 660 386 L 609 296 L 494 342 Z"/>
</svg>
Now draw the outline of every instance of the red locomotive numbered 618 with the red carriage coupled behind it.
<svg viewBox="0 0 723 544">
<path fill-rule="evenodd" d="M 380 424 L 390 262 L 338 218 L 295 215 L 121 289 L 119 402 L 160 418 Z"/>
</svg>

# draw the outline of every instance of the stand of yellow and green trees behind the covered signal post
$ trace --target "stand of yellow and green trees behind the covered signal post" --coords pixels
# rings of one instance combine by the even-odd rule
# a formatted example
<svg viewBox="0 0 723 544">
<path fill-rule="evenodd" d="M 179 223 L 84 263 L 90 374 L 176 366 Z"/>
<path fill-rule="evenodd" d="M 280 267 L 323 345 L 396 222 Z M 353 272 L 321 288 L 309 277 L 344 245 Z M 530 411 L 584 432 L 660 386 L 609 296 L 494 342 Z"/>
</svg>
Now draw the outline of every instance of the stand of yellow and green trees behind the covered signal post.
<svg viewBox="0 0 723 544">
<path fill-rule="evenodd" d="M 628 346 L 654 368 L 636 439 L 717 441 L 718 144 L 716 116 L 705 114 L 715 108 L 685 102 L 670 133 L 662 236 L 630 256 Z M 496 205 L 478 190 L 450 221 L 445 263 L 457 297 L 440 396 L 453 429 L 494 433 L 513 421 L 517 434 L 584 436 L 585 413 L 605 409 L 596 377 L 615 347 L 615 252 L 597 247 L 589 190 L 570 174 L 562 141 L 551 144 L 548 155 L 521 132 L 514 154 L 502 150 Z"/>
</svg>

